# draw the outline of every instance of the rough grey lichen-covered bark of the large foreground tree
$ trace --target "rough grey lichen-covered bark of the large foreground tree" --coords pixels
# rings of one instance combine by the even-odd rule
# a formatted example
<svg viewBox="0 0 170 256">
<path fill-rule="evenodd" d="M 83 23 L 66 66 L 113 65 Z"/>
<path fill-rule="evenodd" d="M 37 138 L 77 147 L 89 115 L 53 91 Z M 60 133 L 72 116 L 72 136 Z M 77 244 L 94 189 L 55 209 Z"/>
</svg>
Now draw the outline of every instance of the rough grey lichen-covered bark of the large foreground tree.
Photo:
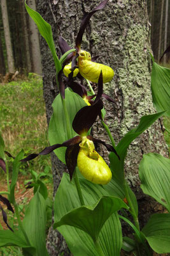
<svg viewBox="0 0 170 256">
<path fill-rule="evenodd" d="M 53 38 L 59 54 L 59 35 L 67 40 L 69 45 L 74 47 L 74 40 L 78 33 L 81 19 L 85 12 L 90 12 L 99 4 L 94 1 L 52 1 L 39 0 L 38 12 L 52 25 Z M 106 104 L 108 111 L 106 121 L 111 129 L 116 143 L 130 129 L 138 125 L 143 115 L 155 113 L 152 104 L 150 90 L 150 30 L 146 12 L 146 1 L 144 0 L 112 0 L 106 8 L 96 13 L 87 26 L 83 36 L 82 49 L 90 51 L 92 56 L 100 54 L 97 62 L 109 65 L 115 70 L 115 77 L 111 83 L 105 84 L 104 92 L 111 95 L 116 104 Z M 57 95 L 55 86 L 55 68 L 50 50 L 41 38 L 41 54 L 43 65 L 44 97 L 46 102 L 46 116 L 49 122 L 52 115 L 52 102 Z M 106 138 L 100 122 L 94 125 L 94 136 Z M 101 154 L 106 157 L 103 148 Z M 145 222 L 150 214 L 152 201 L 146 198 L 139 189 L 138 166 L 144 153 L 159 152 L 166 156 L 167 148 L 162 135 L 161 120 L 155 122 L 150 129 L 131 143 L 127 154 L 125 170 L 127 180 L 132 189 L 137 193 L 138 199 L 149 206 L 145 206 Z M 52 155 L 54 195 L 59 186 L 60 176 L 65 169 Z M 143 211 L 141 209 L 143 214 Z M 55 244 L 55 246 L 53 246 Z M 62 237 L 56 231 L 50 230 L 48 237 L 48 250 L 50 255 L 69 255 L 64 247 Z"/>
</svg>

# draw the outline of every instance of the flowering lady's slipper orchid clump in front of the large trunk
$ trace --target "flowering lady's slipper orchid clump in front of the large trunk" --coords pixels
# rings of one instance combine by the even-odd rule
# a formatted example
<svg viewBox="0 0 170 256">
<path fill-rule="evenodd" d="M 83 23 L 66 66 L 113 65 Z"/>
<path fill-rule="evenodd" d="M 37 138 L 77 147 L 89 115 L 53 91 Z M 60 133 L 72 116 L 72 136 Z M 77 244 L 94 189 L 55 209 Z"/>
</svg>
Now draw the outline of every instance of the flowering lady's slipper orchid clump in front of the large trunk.
<svg viewBox="0 0 170 256">
<path fill-rule="evenodd" d="M 138 221 L 138 202 L 125 180 L 124 172 L 125 156 L 130 143 L 162 116 L 166 109 L 143 116 L 139 125 L 127 132 L 118 145 L 115 145 L 104 118 L 106 110 L 102 101 L 102 97 L 105 97 L 110 102 L 114 102 L 109 95 L 103 93 L 103 83 L 111 81 L 114 76 L 113 69 L 96 63 L 96 57 L 91 58 L 89 52 L 81 49 L 83 33 L 90 17 L 102 10 L 107 3 L 108 0 L 104 0 L 92 12 L 85 15 L 81 21 L 74 49 L 67 45 L 64 38 L 59 38 L 62 52 L 60 59 L 55 52 L 50 24 L 25 3 L 27 12 L 36 22 L 39 32 L 52 52 L 59 95 L 52 104 L 53 114 L 48 127 L 50 146 L 39 154 L 31 154 L 24 159 L 23 152 L 16 157 L 12 182 L 6 193 L 8 199 L 1 196 L 0 192 L 0 200 L 12 211 L 11 204 L 15 205 L 17 212 L 14 189 L 18 165 L 53 151 L 60 161 L 66 164 L 69 172 L 63 174 L 55 195 L 53 228 L 57 228 L 64 236 L 73 255 L 118 256 L 120 250 L 125 253 L 124 255 L 138 256 L 152 255 L 153 251 L 169 253 L 170 214 L 153 214 L 141 230 Z M 90 92 L 84 86 L 84 80 Z M 94 93 L 91 82 L 98 84 L 97 93 Z M 96 122 L 97 116 L 108 132 L 111 145 L 90 135 L 90 129 Z M 109 166 L 96 152 L 94 143 L 102 143 L 110 152 Z M 4 156 L 2 138 L 0 157 L 0 164 L 4 169 L 8 165 Z M 151 153 L 143 156 L 139 166 L 143 192 L 164 205 L 168 212 L 170 211 L 169 167 L 169 159 Z M 1 210 L 8 225 L 2 207 Z M 129 218 L 129 214 L 132 218 Z M 125 221 L 132 228 L 130 237 L 122 235 L 120 220 Z M 0 246 L 20 246 L 24 255 L 48 255 L 45 248 L 46 196 L 42 186 L 41 189 L 40 187 L 36 189 L 34 198 L 25 212 L 24 221 L 18 216 L 18 225 L 19 230 L 0 230 Z M 10 228 L 9 225 L 8 227 Z"/>
</svg>

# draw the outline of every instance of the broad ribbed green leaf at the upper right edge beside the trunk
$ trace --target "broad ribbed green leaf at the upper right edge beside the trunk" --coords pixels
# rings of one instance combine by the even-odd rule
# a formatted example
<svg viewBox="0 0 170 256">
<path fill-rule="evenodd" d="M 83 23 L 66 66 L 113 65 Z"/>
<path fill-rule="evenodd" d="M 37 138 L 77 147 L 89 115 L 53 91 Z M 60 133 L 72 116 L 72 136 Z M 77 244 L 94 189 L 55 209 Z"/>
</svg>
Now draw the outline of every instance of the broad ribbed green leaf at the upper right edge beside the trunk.
<svg viewBox="0 0 170 256">
<path fill-rule="evenodd" d="M 161 67 L 153 60 L 151 89 L 153 105 L 157 111 L 167 110 L 164 115 L 170 116 L 170 69 Z"/>
</svg>

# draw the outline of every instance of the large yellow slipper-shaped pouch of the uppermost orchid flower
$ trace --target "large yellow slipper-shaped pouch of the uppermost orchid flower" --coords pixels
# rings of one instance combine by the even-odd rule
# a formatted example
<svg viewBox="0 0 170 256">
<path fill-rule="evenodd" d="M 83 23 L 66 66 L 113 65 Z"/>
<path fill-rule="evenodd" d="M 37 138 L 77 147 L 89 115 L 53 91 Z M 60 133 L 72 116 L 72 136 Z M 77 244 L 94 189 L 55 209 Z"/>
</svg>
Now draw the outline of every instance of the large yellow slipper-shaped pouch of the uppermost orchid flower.
<svg viewBox="0 0 170 256">
<path fill-rule="evenodd" d="M 102 70 L 103 83 L 110 82 L 114 76 L 113 69 L 101 63 L 91 61 L 89 56 L 90 53 L 86 51 L 81 51 L 78 56 L 78 68 L 81 76 L 85 77 L 89 81 L 98 83 Z"/>
</svg>

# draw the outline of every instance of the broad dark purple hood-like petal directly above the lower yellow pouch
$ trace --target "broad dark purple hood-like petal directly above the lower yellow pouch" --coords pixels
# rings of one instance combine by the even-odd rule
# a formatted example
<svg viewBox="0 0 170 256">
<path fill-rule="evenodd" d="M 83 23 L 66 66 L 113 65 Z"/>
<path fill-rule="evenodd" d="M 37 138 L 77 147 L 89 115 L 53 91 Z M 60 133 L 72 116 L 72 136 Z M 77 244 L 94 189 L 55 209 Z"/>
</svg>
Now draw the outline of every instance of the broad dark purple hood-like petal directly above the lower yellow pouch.
<svg viewBox="0 0 170 256">
<path fill-rule="evenodd" d="M 78 113 L 76 113 L 73 120 L 72 126 L 74 131 L 81 136 L 82 134 L 85 135 L 96 121 L 97 115 L 102 108 L 103 102 L 101 100 L 98 100 L 96 104 L 92 106 L 81 108 Z"/>
</svg>

